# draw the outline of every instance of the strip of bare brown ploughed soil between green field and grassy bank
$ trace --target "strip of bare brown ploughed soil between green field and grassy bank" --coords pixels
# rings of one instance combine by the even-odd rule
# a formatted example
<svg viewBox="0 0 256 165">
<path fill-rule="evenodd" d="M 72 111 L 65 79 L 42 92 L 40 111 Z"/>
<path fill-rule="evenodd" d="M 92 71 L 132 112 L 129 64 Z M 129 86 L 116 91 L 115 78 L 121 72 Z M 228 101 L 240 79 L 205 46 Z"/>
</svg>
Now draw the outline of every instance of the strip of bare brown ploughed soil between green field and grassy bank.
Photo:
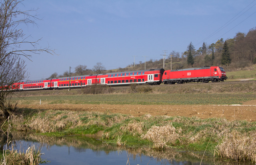
<svg viewBox="0 0 256 165">
<path fill-rule="evenodd" d="M 223 117 L 229 121 L 247 120 L 256 121 L 256 100 L 244 102 L 243 105 L 110 105 L 110 104 L 19 104 L 20 108 L 71 110 L 71 111 L 98 111 L 109 110 L 112 113 L 131 114 L 141 116 L 197 116 L 201 119 Z"/>
</svg>

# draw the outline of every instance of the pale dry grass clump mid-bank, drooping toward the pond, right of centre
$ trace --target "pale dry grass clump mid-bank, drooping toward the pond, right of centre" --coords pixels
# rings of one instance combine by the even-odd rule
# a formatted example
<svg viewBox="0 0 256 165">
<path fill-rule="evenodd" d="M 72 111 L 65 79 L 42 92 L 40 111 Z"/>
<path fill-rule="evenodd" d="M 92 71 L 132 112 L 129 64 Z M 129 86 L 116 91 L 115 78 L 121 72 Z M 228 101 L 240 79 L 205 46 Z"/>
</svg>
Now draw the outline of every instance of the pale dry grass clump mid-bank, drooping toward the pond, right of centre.
<svg viewBox="0 0 256 165">
<path fill-rule="evenodd" d="M 141 138 L 152 140 L 154 142 L 153 148 L 163 149 L 168 148 L 167 143 L 174 143 L 179 136 L 171 123 L 171 125 L 166 126 L 152 126 Z"/>
</svg>

